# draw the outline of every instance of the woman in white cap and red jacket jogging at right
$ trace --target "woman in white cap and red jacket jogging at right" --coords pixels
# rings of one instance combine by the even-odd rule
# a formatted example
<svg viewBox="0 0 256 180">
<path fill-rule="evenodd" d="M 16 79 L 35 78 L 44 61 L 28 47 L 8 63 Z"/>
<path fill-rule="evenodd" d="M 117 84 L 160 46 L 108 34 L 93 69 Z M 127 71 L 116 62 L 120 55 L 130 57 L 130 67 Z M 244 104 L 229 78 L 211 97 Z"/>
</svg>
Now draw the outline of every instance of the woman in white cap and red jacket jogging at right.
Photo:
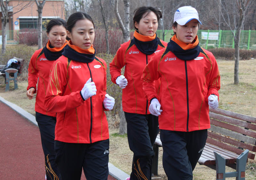
<svg viewBox="0 0 256 180">
<path fill-rule="evenodd" d="M 220 73 L 212 53 L 199 46 L 196 34 L 201 22 L 196 9 L 180 7 L 173 22 L 174 36 L 151 59 L 141 79 L 150 113 L 160 115 L 168 179 L 193 179 L 210 128 L 209 106 L 218 107 Z M 158 78 L 160 97 L 153 91 Z"/>
</svg>

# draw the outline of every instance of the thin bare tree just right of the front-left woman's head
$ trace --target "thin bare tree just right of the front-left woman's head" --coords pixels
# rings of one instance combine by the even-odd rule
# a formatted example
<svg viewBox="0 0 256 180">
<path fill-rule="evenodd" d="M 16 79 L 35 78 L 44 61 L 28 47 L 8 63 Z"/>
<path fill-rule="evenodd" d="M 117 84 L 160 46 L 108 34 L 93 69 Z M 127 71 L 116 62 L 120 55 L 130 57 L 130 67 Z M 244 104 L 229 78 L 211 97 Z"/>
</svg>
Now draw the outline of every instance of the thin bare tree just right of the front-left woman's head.
<svg viewBox="0 0 256 180">
<path fill-rule="evenodd" d="M 107 48 L 107 54 L 109 54 L 109 43 L 108 43 L 108 10 L 109 10 L 109 0 L 105 1 L 105 5 L 104 8 L 106 11 L 104 11 L 103 6 L 102 6 L 102 2 L 101 0 L 98 0 L 99 4 L 100 4 L 100 11 L 101 11 L 101 15 L 102 15 L 102 19 L 103 19 L 103 23 L 105 26 L 105 40 L 106 40 L 106 48 Z"/>
</svg>

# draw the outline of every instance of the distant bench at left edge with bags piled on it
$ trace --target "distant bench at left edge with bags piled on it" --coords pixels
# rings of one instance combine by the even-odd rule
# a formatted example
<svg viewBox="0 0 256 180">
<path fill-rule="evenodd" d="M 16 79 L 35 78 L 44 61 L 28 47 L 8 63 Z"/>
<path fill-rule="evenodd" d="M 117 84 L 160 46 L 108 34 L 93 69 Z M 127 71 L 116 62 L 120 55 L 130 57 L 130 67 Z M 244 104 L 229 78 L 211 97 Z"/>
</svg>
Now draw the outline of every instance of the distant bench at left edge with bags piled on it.
<svg viewBox="0 0 256 180">
<path fill-rule="evenodd" d="M 16 59 L 17 61 L 20 62 L 20 68 L 15 69 L 15 68 L 8 68 L 5 71 L 5 73 L 0 73 L 1 76 L 4 76 L 4 83 L 5 83 L 5 91 L 10 90 L 10 81 L 14 81 L 14 90 L 18 89 L 18 81 L 17 77 L 20 76 L 23 64 L 24 64 L 24 59 L 16 58 L 13 57 L 13 59 Z M 3 69 L 5 66 L 0 65 L 0 71 Z"/>
</svg>

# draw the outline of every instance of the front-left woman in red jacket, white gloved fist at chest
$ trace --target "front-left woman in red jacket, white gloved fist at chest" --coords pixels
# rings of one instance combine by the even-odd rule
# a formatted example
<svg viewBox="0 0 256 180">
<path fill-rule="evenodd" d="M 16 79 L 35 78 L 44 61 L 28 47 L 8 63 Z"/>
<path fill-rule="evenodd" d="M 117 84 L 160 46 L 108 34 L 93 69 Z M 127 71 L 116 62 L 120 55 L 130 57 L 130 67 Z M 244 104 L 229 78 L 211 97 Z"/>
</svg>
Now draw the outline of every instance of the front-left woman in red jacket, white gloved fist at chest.
<svg viewBox="0 0 256 180">
<path fill-rule="evenodd" d="M 62 56 L 51 68 L 45 108 L 57 112 L 56 163 L 62 179 L 107 180 L 109 135 L 104 111 L 115 99 L 106 94 L 107 64 L 92 47 L 94 24 L 82 12 L 67 21 L 70 38 Z"/>
</svg>

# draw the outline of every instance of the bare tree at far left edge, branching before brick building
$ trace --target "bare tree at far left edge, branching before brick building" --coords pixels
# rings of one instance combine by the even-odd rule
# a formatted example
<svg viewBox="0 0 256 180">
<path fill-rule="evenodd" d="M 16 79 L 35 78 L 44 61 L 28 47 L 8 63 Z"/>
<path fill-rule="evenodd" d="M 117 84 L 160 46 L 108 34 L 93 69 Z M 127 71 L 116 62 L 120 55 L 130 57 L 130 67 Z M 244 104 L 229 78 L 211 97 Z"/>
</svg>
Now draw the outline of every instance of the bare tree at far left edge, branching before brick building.
<svg viewBox="0 0 256 180">
<path fill-rule="evenodd" d="M 6 51 L 6 44 L 5 44 L 5 35 L 6 35 L 6 25 L 7 25 L 7 21 L 8 18 L 10 16 L 12 16 L 13 14 L 16 14 L 20 11 L 22 11 L 23 9 L 27 8 L 30 6 L 31 1 L 26 1 L 26 2 L 18 2 L 18 4 L 16 6 L 8 6 L 9 4 L 9 0 L 0 0 L 0 4 L 1 4 L 1 11 L 2 11 L 2 49 L 1 49 L 1 53 L 4 54 Z M 13 8 L 18 8 L 17 11 L 15 12 L 11 12 L 11 10 L 13 10 Z M 8 13 L 10 12 L 10 13 Z"/>
</svg>

